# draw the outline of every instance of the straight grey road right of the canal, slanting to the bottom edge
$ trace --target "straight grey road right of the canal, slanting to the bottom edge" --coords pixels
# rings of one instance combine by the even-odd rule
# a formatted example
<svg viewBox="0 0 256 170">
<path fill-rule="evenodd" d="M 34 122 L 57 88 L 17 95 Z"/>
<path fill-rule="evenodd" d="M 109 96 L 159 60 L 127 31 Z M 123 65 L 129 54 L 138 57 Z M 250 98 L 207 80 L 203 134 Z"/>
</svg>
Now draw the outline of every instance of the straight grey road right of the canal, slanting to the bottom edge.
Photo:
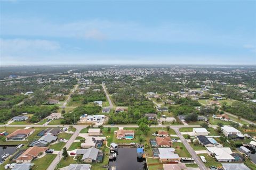
<svg viewBox="0 0 256 170">
<path fill-rule="evenodd" d="M 181 142 L 184 144 L 184 146 L 186 147 L 186 149 L 188 150 L 188 152 L 190 153 L 190 155 L 194 158 L 196 164 L 198 165 L 198 167 L 201 170 L 209 170 L 209 168 L 207 168 L 204 163 L 202 162 L 202 160 L 197 156 L 196 152 L 194 151 L 193 148 L 191 148 L 191 146 L 189 145 L 189 143 L 187 142 L 187 140 L 183 137 L 183 135 L 180 133 L 178 128 L 172 128 L 175 133 L 178 135 L 178 137 L 180 138 Z"/>
</svg>

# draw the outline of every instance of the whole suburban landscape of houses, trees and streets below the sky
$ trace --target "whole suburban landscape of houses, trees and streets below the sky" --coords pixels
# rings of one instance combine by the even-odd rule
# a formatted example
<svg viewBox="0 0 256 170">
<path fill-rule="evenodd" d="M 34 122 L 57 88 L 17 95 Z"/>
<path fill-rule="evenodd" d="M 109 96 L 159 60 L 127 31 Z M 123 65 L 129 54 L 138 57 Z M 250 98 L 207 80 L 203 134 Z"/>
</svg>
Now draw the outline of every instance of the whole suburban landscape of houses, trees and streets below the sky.
<svg viewBox="0 0 256 170">
<path fill-rule="evenodd" d="M 0 170 L 255 170 L 256 66 L 2 66 Z"/>
</svg>

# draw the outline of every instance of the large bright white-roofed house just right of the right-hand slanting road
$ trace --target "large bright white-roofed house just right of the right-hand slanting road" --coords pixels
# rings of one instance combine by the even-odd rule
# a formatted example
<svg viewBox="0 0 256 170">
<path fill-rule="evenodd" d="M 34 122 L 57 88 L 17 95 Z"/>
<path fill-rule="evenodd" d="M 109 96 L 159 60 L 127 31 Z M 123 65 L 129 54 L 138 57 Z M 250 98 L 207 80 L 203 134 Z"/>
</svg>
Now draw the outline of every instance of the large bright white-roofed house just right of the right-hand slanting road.
<svg viewBox="0 0 256 170">
<path fill-rule="evenodd" d="M 234 162 L 235 158 L 231 156 L 233 153 L 230 148 L 206 147 L 211 156 L 214 156 L 218 162 Z"/>
</svg>

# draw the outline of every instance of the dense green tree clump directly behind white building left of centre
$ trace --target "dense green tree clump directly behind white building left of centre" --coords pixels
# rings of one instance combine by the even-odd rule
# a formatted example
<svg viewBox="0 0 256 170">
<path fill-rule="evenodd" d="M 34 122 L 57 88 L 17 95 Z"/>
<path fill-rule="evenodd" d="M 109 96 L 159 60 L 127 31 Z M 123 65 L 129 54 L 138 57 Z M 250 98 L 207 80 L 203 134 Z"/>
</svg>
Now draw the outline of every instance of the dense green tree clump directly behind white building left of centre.
<svg viewBox="0 0 256 170">
<path fill-rule="evenodd" d="M 80 106 L 76 107 L 73 112 L 65 113 L 64 119 L 61 121 L 62 124 L 73 124 L 74 122 L 79 121 L 79 117 L 83 114 L 96 115 L 101 111 L 100 106 Z M 76 120 L 75 120 L 76 118 Z"/>
</svg>

